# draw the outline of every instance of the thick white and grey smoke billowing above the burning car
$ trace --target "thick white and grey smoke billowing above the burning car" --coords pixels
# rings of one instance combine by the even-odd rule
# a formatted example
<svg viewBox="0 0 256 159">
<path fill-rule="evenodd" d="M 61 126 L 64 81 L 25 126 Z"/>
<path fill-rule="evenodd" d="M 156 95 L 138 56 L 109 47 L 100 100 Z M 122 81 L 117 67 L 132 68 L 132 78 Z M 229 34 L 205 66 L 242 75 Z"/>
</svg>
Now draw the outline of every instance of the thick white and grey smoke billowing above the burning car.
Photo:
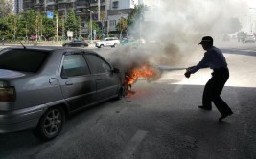
<svg viewBox="0 0 256 159">
<path fill-rule="evenodd" d="M 121 46 L 114 49 L 108 60 L 123 71 L 151 66 L 188 67 L 197 64 L 202 50 L 198 42 L 202 36 L 221 36 L 228 26 L 226 19 L 243 16 L 248 10 L 245 0 L 172 0 L 159 1 L 144 14 L 144 21 L 135 23 L 133 36 L 146 40 L 138 48 Z M 156 43 L 151 43 L 156 41 Z M 157 75 L 159 77 L 159 75 Z"/>
</svg>

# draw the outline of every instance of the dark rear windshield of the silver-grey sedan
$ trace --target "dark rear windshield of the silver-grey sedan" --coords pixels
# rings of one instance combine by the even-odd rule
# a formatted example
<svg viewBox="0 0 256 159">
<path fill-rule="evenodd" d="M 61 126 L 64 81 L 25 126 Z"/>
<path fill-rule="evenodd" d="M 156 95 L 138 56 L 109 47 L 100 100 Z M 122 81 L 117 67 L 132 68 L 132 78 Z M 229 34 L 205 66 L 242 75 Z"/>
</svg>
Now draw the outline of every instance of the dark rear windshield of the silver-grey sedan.
<svg viewBox="0 0 256 159">
<path fill-rule="evenodd" d="M 0 69 L 36 72 L 50 51 L 4 49 L 0 51 Z"/>
</svg>

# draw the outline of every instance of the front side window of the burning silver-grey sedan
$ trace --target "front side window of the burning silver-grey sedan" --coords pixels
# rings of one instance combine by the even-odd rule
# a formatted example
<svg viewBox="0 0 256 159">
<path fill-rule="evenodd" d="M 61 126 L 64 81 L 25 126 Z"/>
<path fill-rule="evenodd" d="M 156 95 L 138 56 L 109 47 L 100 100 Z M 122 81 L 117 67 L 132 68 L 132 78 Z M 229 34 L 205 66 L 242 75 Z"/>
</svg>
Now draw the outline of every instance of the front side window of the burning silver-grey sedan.
<svg viewBox="0 0 256 159">
<path fill-rule="evenodd" d="M 105 73 L 111 70 L 111 66 L 103 58 L 96 55 L 86 55 L 85 57 L 89 62 L 93 74 Z"/>
</svg>

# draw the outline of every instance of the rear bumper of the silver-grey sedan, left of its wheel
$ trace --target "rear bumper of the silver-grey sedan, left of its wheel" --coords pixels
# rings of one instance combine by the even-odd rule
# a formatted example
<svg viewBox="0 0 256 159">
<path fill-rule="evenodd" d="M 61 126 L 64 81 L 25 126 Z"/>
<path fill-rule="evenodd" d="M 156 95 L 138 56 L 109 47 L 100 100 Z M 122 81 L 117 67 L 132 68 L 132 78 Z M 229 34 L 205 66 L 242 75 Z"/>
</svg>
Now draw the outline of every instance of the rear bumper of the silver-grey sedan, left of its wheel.
<svg viewBox="0 0 256 159">
<path fill-rule="evenodd" d="M 0 112 L 0 133 L 35 128 L 45 111 L 45 105 L 38 105 L 10 112 Z"/>
</svg>

